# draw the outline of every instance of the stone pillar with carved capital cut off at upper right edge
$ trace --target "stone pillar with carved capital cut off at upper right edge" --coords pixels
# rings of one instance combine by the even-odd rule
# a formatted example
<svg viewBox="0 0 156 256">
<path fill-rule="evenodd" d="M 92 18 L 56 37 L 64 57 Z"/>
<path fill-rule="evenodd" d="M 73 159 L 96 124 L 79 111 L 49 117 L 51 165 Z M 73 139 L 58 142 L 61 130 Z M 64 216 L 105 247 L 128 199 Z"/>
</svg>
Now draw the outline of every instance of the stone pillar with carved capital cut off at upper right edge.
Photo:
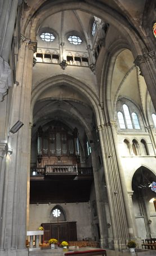
<svg viewBox="0 0 156 256">
<path fill-rule="evenodd" d="M 148 87 L 151 100 L 153 102 L 154 108 L 156 110 L 156 62 L 155 53 L 149 52 L 142 56 L 137 56 L 135 59 L 136 66 L 140 68 L 140 75 L 144 76 L 146 85 Z"/>
</svg>

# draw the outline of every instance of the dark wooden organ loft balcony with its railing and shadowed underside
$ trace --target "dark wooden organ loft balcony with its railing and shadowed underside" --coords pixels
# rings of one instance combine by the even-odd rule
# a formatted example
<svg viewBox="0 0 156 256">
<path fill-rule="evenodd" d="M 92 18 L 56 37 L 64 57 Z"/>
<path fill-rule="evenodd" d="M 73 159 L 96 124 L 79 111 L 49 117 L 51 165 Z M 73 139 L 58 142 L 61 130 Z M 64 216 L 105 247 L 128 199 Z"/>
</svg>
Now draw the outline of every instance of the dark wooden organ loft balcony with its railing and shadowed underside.
<svg viewBox="0 0 156 256">
<path fill-rule="evenodd" d="M 92 168 L 79 168 L 77 165 L 32 168 L 30 203 L 88 202 L 92 182 Z"/>
</svg>

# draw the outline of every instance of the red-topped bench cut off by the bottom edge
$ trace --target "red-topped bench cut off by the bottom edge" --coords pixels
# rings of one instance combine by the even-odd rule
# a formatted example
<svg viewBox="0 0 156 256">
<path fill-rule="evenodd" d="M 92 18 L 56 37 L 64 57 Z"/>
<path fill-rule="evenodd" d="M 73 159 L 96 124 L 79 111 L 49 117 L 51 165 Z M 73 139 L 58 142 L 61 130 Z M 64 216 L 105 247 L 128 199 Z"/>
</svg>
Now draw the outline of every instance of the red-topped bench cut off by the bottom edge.
<svg viewBox="0 0 156 256">
<path fill-rule="evenodd" d="M 68 252 L 64 254 L 65 256 L 68 255 L 77 255 L 77 256 L 95 256 L 95 255 L 106 255 L 106 250 L 103 249 L 96 249 L 96 250 L 87 250 L 87 251 L 73 251 L 72 253 Z"/>
</svg>

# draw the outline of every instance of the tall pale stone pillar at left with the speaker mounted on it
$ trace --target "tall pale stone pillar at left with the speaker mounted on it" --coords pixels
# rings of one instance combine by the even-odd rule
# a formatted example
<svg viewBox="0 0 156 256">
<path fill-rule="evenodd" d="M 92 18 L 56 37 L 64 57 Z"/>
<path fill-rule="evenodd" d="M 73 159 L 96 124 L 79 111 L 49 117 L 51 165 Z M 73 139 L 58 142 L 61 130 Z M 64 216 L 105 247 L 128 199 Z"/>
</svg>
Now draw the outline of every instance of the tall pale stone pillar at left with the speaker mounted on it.
<svg viewBox="0 0 156 256">
<path fill-rule="evenodd" d="M 8 144 L 13 153 L 6 168 L 4 203 L 3 203 L 3 227 L 1 248 L 8 254 L 13 249 L 18 255 L 28 255 L 25 249 L 26 241 L 26 202 L 27 202 L 27 178 L 30 170 L 29 161 L 29 122 L 30 101 L 32 92 L 33 53 L 36 44 L 25 40 L 19 50 L 16 78 L 19 86 L 13 97 L 14 112 L 12 112 L 11 126 L 17 120 L 24 126 L 16 134 L 10 134 Z M 5 254 L 4 254 L 5 255 Z M 16 254 L 15 254 L 16 255 Z"/>
</svg>

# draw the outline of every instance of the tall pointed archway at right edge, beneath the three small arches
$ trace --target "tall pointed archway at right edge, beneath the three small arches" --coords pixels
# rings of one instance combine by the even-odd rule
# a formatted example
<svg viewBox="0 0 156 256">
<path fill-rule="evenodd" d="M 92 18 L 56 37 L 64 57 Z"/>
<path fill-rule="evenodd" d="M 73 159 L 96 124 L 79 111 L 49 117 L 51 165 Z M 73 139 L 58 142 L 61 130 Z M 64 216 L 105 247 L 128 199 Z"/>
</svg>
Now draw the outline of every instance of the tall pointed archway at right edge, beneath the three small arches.
<svg viewBox="0 0 156 256">
<path fill-rule="evenodd" d="M 150 200 L 155 197 L 155 193 L 151 191 L 150 184 L 155 181 L 155 174 L 147 167 L 141 166 L 133 174 L 132 178 L 132 202 L 133 211 L 135 213 L 136 227 L 141 239 L 155 237 L 155 210 Z"/>
</svg>

